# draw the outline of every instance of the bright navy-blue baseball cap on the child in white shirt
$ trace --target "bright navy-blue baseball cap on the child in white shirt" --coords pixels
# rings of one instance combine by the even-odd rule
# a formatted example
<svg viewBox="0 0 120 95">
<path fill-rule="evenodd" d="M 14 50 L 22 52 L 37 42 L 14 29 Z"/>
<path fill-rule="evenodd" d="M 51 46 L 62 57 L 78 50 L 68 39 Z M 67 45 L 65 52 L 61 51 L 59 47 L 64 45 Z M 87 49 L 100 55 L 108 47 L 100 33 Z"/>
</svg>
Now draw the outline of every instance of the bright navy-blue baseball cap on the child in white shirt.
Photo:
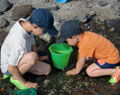
<svg viewBox="0 0 120 95">
<path fill-rule="evenodd" d="M 31 22 L 38 25 L 40 28 L 44 28 L 46 32 L 54 36 L 58 33 L 54 27 L 54 18 L 49 10 L 44 8 L 35 9 L 30 17 Z"/>
</svg>

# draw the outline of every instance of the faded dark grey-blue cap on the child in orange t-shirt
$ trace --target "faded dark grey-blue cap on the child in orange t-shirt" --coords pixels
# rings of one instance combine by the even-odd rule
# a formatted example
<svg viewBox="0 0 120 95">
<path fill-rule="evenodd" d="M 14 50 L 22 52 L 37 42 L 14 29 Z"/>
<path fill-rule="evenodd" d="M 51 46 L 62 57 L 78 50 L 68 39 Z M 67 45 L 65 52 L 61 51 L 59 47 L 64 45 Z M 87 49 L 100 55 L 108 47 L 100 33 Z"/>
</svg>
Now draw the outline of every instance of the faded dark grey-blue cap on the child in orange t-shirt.
<svg viewBox="0 0 120 95">
<path fill-rule="evenodd" d="M 67 38 L 72 38 L 72 36 L 79 35 L 83 32 L 80 28 L 81 23 L 77 20 L 66 21 L 60 29 L 60 38 L 56 43 L 63 43 Z"/>
</svg>

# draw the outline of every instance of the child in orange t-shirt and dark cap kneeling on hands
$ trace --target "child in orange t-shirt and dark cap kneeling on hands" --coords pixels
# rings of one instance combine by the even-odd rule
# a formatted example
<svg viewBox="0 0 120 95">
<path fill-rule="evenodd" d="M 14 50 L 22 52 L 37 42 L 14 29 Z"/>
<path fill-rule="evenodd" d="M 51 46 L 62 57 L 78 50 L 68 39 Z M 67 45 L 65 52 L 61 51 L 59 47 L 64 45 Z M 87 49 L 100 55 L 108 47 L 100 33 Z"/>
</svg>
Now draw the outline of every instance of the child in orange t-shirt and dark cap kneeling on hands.
<svg viewBox="0 0 120 95">
<path fill-rule="evenodd" d="M 77 20 L 69 20 L 62 25 L 60 39 L 57 43 L 64 41 L 67 41 L 71 46 L 77 45 L 79 48 L 79 58 L 76 67 L 67 71 L 67 75 L 79 74 L 84 67 L 86 58 L 92 57 L 96 61 L 86 69 L 88 76 L 99 77 L 112 75 L 109 82 L 117 83 L 119 81 L 119 50 L 108 39 L 90 31 L 83 31 Z M 113 69 L 116 66 L 117 68 Z"/>
</svg>

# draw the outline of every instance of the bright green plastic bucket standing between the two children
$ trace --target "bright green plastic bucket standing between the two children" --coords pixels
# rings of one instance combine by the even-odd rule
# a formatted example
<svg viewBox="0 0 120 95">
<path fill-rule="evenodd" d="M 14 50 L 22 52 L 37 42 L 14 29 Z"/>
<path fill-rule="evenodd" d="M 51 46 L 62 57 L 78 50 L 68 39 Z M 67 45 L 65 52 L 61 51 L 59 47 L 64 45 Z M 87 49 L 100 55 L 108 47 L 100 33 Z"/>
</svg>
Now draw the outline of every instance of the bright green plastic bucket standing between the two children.
<svg viewBox="0 0 120 95">
<path fill-rule="evenodd" d="M 54 66 L 58 69 L 64 69 L 68 65 L 73 49 L 66 43 L 55 43 L 49 47 L 49 51 L 51 53 Z"/>
</svg>

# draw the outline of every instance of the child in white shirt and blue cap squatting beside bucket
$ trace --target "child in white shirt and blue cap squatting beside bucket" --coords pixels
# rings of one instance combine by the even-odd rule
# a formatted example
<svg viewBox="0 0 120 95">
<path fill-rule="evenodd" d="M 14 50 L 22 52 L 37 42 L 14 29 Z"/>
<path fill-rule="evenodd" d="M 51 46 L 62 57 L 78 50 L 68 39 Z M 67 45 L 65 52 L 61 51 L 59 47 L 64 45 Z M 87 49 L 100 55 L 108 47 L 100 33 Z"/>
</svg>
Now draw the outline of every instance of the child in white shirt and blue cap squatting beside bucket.
<svg viewBox="0 0 120 95">
<path fill-rule="evenodd" d="M 57 30 L 53 24 L 54 18 L 47 9 L 36 9 L 29 20 L 21 18 L 13 25 L 1 47 L 1 71 L 4 79 L 11 76 L 10 82 L 19 89 L 37 89 L 38 84 L 26 81 L 23 75 L 26 72 L 36 75 L 50 73 L 50 65 L 42 62 L 47 57 L 37 55 L 34 35 L 56 35 Z"/>
</svg>

